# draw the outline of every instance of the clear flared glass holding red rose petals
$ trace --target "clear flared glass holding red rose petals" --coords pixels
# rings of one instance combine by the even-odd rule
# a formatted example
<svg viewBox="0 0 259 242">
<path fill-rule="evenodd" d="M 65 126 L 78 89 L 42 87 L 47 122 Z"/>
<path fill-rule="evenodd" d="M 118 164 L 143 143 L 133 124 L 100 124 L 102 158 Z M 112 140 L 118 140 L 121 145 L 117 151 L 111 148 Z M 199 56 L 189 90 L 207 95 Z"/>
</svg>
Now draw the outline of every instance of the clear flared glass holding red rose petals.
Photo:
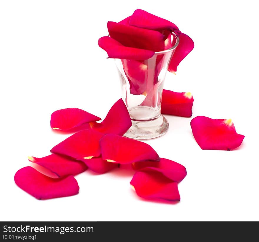
<svg viewBox="0 0 259 242">
<path fill-rule="evenodd" d="M 162 91 L 167 68 L 179 38 L 172 34 L 172 48 L 155 52 L 147 60 L 115 59 L 122 86 L 122 100 L 132 126 L 124 136 L 145 140 L 164 135 L 168 121 L 161 115 Z"/>
</svg>

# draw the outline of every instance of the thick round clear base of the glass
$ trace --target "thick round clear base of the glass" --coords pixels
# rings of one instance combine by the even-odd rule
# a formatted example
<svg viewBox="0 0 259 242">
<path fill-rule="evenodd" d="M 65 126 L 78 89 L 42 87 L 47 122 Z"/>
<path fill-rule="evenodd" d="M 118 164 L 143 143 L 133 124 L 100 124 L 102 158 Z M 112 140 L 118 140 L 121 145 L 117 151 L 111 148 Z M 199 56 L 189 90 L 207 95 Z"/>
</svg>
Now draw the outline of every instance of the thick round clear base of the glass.
<svg viewBox="0 0 259 242">
<path fill-rule="evenodd" d="M 132 126 L 124 136 L 137 140 L 154 139 L 164 135 L 168 130 L 168 126 L 168 121 L 163 115 L 150 121 L 132 120 Z"/>
</svg>

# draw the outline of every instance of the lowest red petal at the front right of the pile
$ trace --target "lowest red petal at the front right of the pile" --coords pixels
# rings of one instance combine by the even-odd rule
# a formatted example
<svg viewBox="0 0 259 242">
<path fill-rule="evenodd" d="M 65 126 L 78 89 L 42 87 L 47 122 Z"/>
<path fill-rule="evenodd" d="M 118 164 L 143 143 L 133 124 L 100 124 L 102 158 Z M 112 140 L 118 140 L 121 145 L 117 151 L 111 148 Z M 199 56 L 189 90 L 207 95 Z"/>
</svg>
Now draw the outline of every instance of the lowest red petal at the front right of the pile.
<svg viewBox="0 0 259 242">
<path fill-rule="evenodd" d="M 142 198 L 180 201 L 177 182 L 171 181 L 160 172 L 137 171 L 130 184 Z"/>
</svg>

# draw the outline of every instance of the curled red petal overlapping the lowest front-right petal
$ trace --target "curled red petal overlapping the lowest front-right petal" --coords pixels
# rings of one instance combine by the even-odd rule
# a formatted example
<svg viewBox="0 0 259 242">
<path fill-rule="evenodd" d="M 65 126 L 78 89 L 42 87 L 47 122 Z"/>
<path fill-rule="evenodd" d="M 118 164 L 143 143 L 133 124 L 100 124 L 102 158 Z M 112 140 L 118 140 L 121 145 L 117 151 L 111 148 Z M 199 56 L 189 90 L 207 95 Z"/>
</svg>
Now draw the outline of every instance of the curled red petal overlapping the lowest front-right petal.
<svg viewBox="0 0 259 242">
<path fill-rule="evenodd" d="M 185 178 L 186 168 L 172 160 L 160 158 L 159 162 L 143 161 L 132 163 L 134 170 L 149 171 L 154 170 L 162 173 L 165 177 L 175 182 L 180 182 Z"/>
</svg>

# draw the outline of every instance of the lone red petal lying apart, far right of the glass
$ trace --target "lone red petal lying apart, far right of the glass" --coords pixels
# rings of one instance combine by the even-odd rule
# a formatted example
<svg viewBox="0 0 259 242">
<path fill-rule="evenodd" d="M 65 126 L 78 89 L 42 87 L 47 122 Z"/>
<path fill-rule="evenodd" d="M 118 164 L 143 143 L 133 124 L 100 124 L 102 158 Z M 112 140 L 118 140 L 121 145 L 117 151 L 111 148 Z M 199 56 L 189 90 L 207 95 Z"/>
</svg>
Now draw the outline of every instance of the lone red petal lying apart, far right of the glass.
<svg viewBox="0 0 259 242">
<path fill-rule="evenodd" d="M 202 149 L 230 150 L 242 143 L 231 119 L 212 119 L 197 116 L 191 120 L 192 134 Z"/>
</svg>

